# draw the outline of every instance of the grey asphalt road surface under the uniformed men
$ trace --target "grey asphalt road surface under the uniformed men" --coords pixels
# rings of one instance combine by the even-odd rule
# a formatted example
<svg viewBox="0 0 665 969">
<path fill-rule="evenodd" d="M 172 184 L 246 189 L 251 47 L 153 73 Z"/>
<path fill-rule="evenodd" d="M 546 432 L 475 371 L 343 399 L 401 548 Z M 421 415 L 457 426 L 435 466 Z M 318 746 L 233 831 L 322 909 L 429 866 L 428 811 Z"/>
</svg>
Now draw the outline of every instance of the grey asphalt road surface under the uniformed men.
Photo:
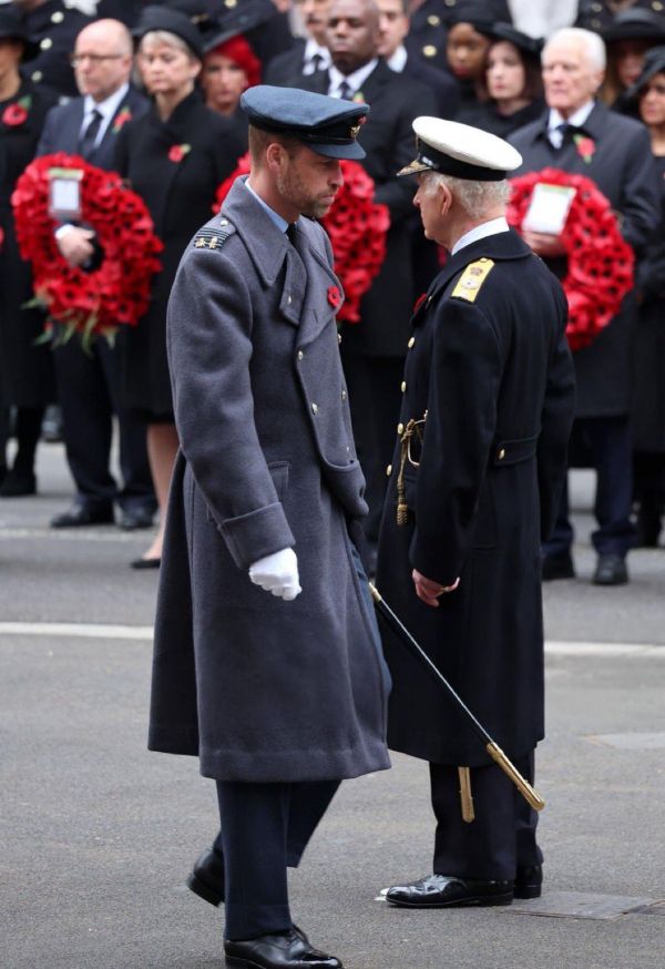
<svg viewBox="0 0 665 969">
<path fill-rule="evenodd" d="M 127 562 L 149 537 L 50 531 L 61 448 L 40 449 L 39 477 L 37 498 L 0 502 L 0 966 L 221 969 L 223 912 L 183 887 L 213 784 L 145 749 L 156 577 Z M 545 589 L 543 898 L 377 900 L 431 866 L 427 768 L 396 756 L 342 785 L 291 878 L 296 920 L 346 969 L 665 967 L 665 549 L 633 553 L 625 589 L 592 586 L 591 486 L 575 475 L 581 578 Z"/>
</svg>

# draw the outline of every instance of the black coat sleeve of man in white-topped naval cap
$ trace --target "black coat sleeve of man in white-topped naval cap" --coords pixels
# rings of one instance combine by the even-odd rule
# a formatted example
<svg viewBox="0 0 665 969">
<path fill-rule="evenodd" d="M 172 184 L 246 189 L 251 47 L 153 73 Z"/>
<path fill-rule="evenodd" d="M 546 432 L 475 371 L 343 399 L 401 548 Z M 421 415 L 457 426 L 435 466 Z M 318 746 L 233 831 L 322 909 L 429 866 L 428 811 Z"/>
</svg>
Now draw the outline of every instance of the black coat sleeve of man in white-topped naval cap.
<svg viewBox="0 0 665 969">
<path fill-rule="evenodd" d="M 475 526 L 497 430 L 503 348 L 474 304 L 443 302 L 436 320 L 411 563 L 451 585 Z"/>
</svg>

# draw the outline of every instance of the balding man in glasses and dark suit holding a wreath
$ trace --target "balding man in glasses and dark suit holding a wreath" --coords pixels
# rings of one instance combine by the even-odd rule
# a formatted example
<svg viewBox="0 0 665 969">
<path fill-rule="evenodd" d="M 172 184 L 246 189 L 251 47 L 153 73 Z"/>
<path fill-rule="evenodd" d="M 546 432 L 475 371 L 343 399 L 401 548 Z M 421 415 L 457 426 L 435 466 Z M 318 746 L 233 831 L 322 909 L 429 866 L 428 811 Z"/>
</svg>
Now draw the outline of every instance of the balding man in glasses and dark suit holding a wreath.
<svg viewBox="0 0 665 969">
<path fill-rule="evenodd" d="M 81 96 L 49 112 L 37 154 L 80 154 L 92 165 L 110 170 L 117 132 L 130 118 L 147 110 L 147 101 L 129 83 L 132 38 L 127 29 L 115 20 L 89 24 L 76 38 L 73 64 Z M 62 255 L 72 265 L 94 265 L 99 258 L 92 228 L 65 224 L 55 235 Z M 111 523 L 117 502 L 121 527 L 147 528 L 155 500 L 145 427 L 120 404 L 117 349 L 99 339 L 86 355 L 72 339 L 58 347 L 54 361 L 76 499 L 52 520 L 52 527 Z M 113 415 L 120 428 L 120 491 L 109 469 Z"/>
</svg>

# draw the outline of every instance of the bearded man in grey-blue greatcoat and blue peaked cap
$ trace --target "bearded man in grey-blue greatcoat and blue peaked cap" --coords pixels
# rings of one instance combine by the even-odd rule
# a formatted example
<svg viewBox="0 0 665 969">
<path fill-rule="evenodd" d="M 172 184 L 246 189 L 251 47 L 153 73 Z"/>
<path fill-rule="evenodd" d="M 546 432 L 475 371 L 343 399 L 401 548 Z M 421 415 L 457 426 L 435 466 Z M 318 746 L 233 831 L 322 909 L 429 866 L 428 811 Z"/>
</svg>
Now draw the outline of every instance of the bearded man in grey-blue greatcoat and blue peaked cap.
<svg viewBox="0 0 665 969">
<path fill-rule="evenodd" d="M 389 675 L 349 537 L 367 512 L 324 215 L 366 104 L 243 95 L 252 171 L 183 256 L 167 316 L 182 450 L 155 629 L 150 747 L 198 755 L 221 832 L 190 887 L 229 965 L 337 969 L 291 922 L 339 782 L 390 766 Z M 307 217 L 306 217 L 307 216 Z"/>
</svg>

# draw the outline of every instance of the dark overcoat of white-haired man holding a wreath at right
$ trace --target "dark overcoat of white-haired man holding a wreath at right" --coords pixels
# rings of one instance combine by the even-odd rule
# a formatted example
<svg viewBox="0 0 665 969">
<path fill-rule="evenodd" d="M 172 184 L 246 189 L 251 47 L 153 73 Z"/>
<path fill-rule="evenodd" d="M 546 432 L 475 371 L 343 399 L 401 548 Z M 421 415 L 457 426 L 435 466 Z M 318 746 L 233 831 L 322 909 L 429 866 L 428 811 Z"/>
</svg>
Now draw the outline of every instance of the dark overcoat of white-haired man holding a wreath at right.
<svg viewBox="0 0 665 969">
<path fill-rule="evenodd" d="M 523 159 L 515 175 L 554 167 L 591 178 L 618 213 L 622 235 L 640 255 L 661 213 L 656 170 L 644 125 L 596 104 L 582 128 L 595 144 L 591 162 L 585 162 L 573 141 L 561 151 L 553 147 L 546 134 L 548 118 L 545 113 L 509 139 Z M 548 265 L 559 278 L 565 276 L 564 258 L 549 261 Z M 594 343 L 574 354 L 576 417 L 628 414 L 630 344 L 634 322 L 635 302 L 628 294 L 620 313 Z"/>
</svg>

